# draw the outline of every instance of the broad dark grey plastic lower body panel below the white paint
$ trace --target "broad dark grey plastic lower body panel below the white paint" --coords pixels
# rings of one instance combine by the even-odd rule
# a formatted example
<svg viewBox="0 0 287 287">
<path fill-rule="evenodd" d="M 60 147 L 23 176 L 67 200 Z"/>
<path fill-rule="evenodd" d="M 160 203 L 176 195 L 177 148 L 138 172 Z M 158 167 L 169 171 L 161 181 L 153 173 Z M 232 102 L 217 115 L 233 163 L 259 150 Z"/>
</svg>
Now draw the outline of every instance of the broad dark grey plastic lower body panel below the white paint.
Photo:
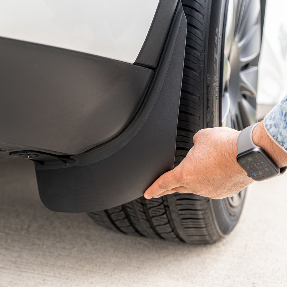
<svg viewBox="0 0 287 287">
<path fill-rule="evenodd" d="M 154 71 L 0 37 L 0 149 L 80 154 L 118 135 Z M 0 156 L 5 156 L 1 153 Z"/>
</svg>

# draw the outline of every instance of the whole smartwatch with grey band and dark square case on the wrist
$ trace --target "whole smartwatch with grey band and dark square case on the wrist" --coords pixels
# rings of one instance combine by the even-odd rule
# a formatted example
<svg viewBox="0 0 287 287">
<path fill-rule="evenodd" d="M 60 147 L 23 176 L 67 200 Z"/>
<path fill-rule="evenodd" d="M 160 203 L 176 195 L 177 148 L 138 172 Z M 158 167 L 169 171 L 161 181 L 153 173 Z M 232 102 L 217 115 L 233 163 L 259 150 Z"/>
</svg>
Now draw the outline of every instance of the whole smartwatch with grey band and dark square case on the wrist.
<svg viewBox="0 0 287 287">
<path fill-rule="evenodd" d="M 279 168 L 268 154 L 252 140 L 252 132 L 258 123 L 245 128 L 237 139 L 237 162 L 255 181 L 263 181 L 283 174 L 287 167 Z"/>
</svg>

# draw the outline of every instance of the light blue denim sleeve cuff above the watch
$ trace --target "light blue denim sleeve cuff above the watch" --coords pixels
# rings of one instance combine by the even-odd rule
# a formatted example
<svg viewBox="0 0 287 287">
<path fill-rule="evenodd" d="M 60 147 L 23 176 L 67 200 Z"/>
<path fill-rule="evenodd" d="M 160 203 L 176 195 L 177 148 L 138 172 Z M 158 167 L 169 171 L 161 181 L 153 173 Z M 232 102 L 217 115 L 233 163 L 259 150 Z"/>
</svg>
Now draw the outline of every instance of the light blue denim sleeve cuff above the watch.
<svg viewBox="0 0 287 287">
<path fill-rule="evenodd" d="M 287 96 L 266 115 L 263 121 L 269 137 L 287 152 Z"/>
</svg>

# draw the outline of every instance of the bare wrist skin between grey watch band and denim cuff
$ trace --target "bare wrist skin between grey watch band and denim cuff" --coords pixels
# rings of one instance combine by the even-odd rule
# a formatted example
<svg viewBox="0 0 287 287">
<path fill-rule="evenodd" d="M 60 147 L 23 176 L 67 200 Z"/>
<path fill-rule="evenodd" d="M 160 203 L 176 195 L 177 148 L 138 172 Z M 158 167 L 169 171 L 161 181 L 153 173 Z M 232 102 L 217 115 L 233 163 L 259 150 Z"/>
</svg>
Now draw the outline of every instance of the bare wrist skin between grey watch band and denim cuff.
<svg viewBox="0 0 287 287">
<path fill-rule="evenodd" d="M 252 140 L 256 146 L 262 148 L 272 160 L 278 165 L 278 167 L 284 167 L 287 165 L 287 153 L 284 152 L 266 133 L 261 121 L 253 130 Z"/>
</svg>

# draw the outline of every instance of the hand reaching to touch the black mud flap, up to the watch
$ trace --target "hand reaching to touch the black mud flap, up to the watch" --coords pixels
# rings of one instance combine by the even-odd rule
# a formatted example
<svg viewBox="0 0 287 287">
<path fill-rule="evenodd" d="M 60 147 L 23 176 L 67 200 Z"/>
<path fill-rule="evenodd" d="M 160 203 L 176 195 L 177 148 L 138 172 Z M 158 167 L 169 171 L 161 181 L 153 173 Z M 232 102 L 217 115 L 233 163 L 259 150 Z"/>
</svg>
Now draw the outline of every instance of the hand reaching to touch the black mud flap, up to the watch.
<svg viewBox="0 0 287 287">
<path fill-rule="evenodd" d="M 159 177 L 144 193 L 147 199 L 179 192 L 220 199 L 231 197 L 253 183 L 238 164 L 239 131 L 227 127 L 201 129 L 194 146 L 173 170 Z"/>
</svg>

